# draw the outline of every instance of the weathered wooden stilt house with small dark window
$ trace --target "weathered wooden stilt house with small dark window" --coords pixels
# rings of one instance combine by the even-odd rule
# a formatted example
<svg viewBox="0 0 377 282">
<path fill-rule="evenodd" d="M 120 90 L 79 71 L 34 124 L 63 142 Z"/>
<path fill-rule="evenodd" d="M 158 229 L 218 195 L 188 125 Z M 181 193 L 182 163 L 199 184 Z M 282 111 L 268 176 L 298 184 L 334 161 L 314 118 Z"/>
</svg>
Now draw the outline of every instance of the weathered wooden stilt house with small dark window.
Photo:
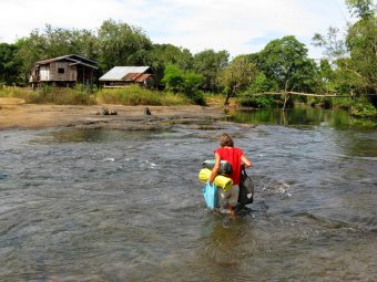
<svg viewBox="0 0 377 282">
<path fill-rule="evenodd" d="M 63 55 L 35 62 L 29 82 L 33 87 L 52 83 L 57 86 L 92 84 L 98 69 L 95 61 L 77 54 Z"/>
</svg>

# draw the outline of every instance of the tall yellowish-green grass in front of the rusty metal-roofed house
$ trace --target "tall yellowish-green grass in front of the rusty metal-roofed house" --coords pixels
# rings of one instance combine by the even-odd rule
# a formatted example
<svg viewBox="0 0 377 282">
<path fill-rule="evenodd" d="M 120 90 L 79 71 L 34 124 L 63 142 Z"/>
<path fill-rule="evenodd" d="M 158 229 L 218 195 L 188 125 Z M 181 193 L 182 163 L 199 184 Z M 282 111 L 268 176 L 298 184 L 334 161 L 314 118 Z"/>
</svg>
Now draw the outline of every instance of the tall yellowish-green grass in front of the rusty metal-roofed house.
<svg viewBox="0 0 377 282">
<path fill-rule="evenodd" d="M 187 105 L 190 101 L 180 94 L 172 92 L 157 92 L 132 85 L 126 88 L 103 88 L 96 94 L 100 103 L 121 105 Z"/>
</svg>

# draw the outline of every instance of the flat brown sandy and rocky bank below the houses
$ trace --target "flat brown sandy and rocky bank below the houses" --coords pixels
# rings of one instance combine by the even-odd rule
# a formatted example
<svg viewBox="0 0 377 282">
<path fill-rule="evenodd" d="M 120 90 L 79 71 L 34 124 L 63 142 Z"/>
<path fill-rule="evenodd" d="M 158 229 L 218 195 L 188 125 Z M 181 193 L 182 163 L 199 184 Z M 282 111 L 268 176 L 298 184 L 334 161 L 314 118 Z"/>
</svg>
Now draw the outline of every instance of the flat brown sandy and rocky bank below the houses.
<svg viewBox="0 0 377 282">
<path fill-rule="evenodd" d="M 98 115 L 102 107 L 118 115 Z M 38 105 L 26 104 L 20 98 L 0 97 L 0 129 L 9 128 L 116 128 L 163 129 L 174 124 L 213 126 L 224 121 L 221 108 L 202 106 L 149 106 L 152 115 L 144 114 L 145 106 L 122 105 Z"/>
</svg>

